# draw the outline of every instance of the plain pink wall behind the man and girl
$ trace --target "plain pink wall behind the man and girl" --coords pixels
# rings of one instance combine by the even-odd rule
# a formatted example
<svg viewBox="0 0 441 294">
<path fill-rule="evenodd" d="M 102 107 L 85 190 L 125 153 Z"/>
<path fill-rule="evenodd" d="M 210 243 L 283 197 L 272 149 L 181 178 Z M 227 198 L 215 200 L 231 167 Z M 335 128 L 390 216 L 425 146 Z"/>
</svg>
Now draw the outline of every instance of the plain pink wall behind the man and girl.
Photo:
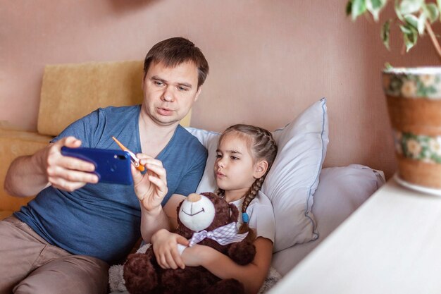
<svg viewBox="0 0 441 294">
<path fill-rule="evenodd" d="M 0 124 L 35 130 L 48 63 L 143 59 L 151 45 L 190 38 L 211 73 L 192 125 L 232 123 L 273 129 L 328 98 L 325 166 L 358 163 L 395 171 L 380 87 L 385 61 L 437 63 L 428 38 L 406 56 L 392 53 L 379 24 L 344 16 L 346 1 L 40 0 L 0 4 Z"/>
</svg>

